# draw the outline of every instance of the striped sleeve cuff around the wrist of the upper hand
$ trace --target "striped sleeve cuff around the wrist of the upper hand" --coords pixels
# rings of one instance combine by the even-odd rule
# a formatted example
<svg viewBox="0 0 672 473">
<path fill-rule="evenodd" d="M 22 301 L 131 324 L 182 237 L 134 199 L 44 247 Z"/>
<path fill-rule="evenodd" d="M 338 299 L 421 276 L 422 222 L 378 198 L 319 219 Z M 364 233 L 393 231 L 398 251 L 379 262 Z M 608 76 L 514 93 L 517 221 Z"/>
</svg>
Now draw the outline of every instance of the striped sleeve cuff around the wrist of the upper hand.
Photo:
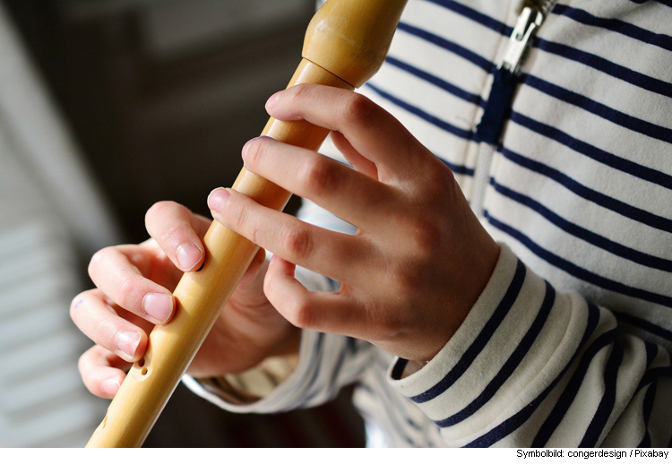
<svg viewBox="0 0 672 473">
<path fill-rule="evenodd" d="M 460 435 L 485 428 L 538 382 L 567 332 L 570 298 L 501 248 L 486 288 L 444 348 L 425 366 L 406 370 L 397 359 L 388 372 L 393 388 L 437 426 L 459 425 Z"/>
</svg>

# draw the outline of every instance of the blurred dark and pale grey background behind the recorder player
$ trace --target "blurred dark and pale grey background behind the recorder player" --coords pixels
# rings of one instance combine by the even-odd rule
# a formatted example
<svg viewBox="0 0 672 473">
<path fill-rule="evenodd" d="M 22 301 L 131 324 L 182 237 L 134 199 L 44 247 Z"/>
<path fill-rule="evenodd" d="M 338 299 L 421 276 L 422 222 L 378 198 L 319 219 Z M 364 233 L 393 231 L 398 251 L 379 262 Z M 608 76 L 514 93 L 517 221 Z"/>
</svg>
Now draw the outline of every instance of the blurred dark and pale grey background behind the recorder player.
<svg viewBox="0 0 672 473">
<path fill-rule="evenodd" d="M 207 214 L 314 0 L 0 0 L 0 445 L 82 446 L 107 401 L 70 301 L 99 248 L 147 237 L 160 200 Z M 288 211 L 296 211 L 297 200 Z M 178 387 L 147 447 L 361 446 L 350 391 L 318 409 L 229 414 Z"/>
</svg>

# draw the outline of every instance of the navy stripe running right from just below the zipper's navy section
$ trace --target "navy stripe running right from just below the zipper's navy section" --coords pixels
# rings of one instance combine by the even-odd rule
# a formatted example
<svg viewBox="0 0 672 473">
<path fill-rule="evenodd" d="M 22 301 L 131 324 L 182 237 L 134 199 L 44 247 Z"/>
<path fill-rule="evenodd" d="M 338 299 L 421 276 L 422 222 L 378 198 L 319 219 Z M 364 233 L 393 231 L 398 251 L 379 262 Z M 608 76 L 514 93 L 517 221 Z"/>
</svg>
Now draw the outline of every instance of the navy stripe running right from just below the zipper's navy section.
<svg viewBox="0 0 672 473">
<path fill-rule="evenodd" d="M 514 116 L 517 114 L 513 114 Z M 518 117 L 515 118 L 519 119 Z M 564 175 L 555 168 L 551 168 L 546 164 L 540 163 L 533 159 L 525 158 L 520 154 L 508 150 L 506 148 L 502 149 L 502 154 L 504 158 L 513 161 L 514 163 L 522 166 L 523 168 L 528 168 L 531 171 L 534 171 L 543 176 L 547 176 L 550 179 L 553 179 L 558 184 L 563 185 L 573 193 L 581 196 L 582 198 L 598 204 L 600 207 L 604 207 L 610 211 L 614 211 L 628 219 L 633 219 L 647 225 L 651 228 L 658 228 L 668 233 L 672 233 L 672 220 L 660 217 L 659 215 L 653 214 L 649 211 L 643 211 L 637 207 L 633 207 L 630 204 L 625 202 L 617 201 L 613 197 L 609 197 L 604 193 L 599 193 L 586 187 L 585 185 L 579 184 L 577 181 L 573 180 L 571 177 Z"/>
</svg>

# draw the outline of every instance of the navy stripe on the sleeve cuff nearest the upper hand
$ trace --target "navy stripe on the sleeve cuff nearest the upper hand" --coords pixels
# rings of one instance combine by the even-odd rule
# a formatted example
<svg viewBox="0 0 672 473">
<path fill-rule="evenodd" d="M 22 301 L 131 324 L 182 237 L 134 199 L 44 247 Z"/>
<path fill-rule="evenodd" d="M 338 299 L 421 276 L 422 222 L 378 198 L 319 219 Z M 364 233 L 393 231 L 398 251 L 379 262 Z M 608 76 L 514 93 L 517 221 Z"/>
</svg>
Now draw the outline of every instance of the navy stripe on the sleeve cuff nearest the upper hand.
<svg viewBox="0 0 672 473">
<path fill-rule="evenodd" d="M 429 388 L 427 391 L 413 396 L 410 398 L 413 402 L 426 402 L 427 400 L 433 400 L 436 396 L 446 391 L 452 386 L 461 375 L 467 371 L 467 368 L 471 366 L 478 354 L 483 351 L 483 348 L 486 347 L 487 342 L 490 341 L 493 334 L 497 330 L 497 327 L 504 321 L 504 317 L 509 313 L 513 303 L 518 298 L 518 295 L 521 293 L 522 283 L 525 280 L 525 273 L 527 272 L 525 265 L 518 260 L 516 265 L 515 274 L 513 274 L 513 280 L 511 285 L 506 289 L 504 297 L 500 301 L 499 305 L 495 309 L 495 312 L 492 314 L 492 317 L 487 321 L 486 325 L 483 327 L 483 330 L 478 333 L 476 340 L 471 343 L 470 348 L 464 352 L 464 355 L 460 358 L 455 366 L 452 367 L 451 371 L 444 376 L 444 378 L 436 383 L 434 386 Z"/>
</svg>

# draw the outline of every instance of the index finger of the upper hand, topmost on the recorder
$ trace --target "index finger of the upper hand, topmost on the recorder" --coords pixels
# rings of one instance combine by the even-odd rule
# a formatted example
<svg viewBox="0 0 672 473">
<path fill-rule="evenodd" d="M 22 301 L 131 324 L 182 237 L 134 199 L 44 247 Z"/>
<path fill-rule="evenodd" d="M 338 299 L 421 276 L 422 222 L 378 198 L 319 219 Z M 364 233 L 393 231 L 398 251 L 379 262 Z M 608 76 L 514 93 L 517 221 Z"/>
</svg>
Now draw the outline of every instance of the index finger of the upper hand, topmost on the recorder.
<svg viewBox="0 0 672 473">
<path fill-rule="evenodd" d="M 306 120 L 343 133 L 385 177 L 413 175 L 418 163 L 410 158 L 424 149 L 396 118 L 349 90 L 300 84 L 272 95 L 266 109 L 280 120 Z"/>
</svg>

